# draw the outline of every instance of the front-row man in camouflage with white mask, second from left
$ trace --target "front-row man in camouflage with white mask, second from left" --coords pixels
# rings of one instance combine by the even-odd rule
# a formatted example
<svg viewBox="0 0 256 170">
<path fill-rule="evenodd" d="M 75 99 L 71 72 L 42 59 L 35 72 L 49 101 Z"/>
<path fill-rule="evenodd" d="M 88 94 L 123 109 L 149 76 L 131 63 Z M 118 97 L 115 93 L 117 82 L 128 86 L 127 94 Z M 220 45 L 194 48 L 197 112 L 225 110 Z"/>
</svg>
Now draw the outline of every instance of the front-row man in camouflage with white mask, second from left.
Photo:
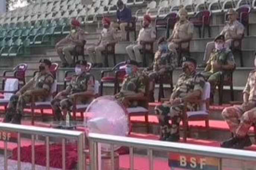
<svg viewBox="0 0 256 170">
<path fill-rule="evenodd" d="M 76 62 L 76 74 L 72 76 L 70 84 L 51 101 L 57 121 L 64 120 L 61 111 L 64 115 L 67 114 L 67 111 L 73 106 L 75 95 L 88 96 L 79 97 L 77 102 L 85 104 L 92 101 L 94 96 L 94 76 L 86 71 L 86 61 Z"/>
</svg>

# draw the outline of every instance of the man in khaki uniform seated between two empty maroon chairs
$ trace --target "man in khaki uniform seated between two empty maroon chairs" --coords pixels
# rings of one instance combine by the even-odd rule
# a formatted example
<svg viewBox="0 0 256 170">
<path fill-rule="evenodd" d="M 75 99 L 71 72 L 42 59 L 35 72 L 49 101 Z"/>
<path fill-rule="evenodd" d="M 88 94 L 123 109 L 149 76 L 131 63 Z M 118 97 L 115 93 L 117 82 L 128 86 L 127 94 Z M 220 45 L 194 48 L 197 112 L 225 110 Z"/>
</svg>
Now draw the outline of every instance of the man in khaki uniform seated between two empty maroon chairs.
<svg viewBox="0 0 256 170">
<path fill-rule="evenodd" d="M 183 8 L 180 9 L 178 15 L 180 16 L 180 20 L 174 25 L 173 33 L 167 39 L 167 41 L 170 42 L 168 48 L 175 52 L 180 43 L 182 43 L 182 48 L 187 48 L 189 45 L 188 42 L 192 39 L 194 32 L 193 23 L 187 20 L 187 10 Z"/>
</svg>

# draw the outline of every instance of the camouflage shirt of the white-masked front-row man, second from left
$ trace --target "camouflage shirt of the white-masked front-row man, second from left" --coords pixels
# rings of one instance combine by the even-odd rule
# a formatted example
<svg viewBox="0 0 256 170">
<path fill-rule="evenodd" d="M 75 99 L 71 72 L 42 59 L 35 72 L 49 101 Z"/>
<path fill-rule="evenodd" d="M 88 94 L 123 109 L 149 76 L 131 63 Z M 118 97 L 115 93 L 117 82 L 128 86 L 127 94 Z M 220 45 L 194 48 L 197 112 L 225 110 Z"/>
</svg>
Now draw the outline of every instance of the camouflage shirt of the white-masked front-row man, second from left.
<svg viewBox="0 0 256 170">
<path fill-rule="evenodd" d="M 73 75 L 67 89 L 71 94 L 85 91 L 94 91 L 94 76 L 89 73 L 81 73 L 79 75 Z"/>
</svg>

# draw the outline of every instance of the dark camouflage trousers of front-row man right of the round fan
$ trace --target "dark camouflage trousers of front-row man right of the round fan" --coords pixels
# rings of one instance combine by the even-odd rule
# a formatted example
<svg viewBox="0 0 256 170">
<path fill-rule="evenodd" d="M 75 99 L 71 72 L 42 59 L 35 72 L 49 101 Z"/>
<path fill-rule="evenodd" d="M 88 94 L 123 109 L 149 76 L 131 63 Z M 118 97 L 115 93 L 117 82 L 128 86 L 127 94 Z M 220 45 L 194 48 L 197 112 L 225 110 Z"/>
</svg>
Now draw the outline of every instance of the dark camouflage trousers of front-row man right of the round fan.
<svg viewBox="0 0 256 170">
<path fill-rule="evenodd" d="M 162 104 L 155 107 L 155 114 L 158 115 L 158 121 L 160 124 L 162 136 L 179 134 L 179 127 L 183 109 L 183 104 Z M 170 120 L 171 124 L 169 123 Z"/>
</svg>

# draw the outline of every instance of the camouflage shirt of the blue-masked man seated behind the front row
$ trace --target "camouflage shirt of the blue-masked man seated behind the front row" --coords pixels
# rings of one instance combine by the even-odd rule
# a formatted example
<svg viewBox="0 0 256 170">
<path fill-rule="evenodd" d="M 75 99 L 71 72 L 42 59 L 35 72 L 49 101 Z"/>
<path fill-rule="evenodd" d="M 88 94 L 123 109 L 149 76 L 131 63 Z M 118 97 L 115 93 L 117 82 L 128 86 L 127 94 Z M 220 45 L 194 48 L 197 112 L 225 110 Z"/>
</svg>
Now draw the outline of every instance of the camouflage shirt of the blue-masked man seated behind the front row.
<svg viewBox="0 0 256 170">
<path fill-rule="evenodd" d="M 167 51 L 161 53 L 158 50 L 154 57 L 153 71 L 159 71 L 161 69 L 174 70 L 177 66 L 177 58 L 176 52 Z"/>
</svg>

